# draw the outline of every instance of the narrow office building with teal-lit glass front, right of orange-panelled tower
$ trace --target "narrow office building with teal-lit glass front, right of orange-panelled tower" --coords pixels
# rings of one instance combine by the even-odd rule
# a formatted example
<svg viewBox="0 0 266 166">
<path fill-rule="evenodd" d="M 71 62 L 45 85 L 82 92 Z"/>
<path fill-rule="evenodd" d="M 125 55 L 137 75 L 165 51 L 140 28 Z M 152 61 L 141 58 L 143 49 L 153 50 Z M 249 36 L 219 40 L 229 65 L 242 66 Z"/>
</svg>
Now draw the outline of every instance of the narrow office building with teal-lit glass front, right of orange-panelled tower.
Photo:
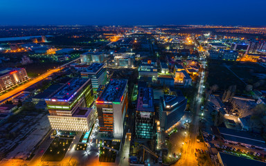
<svg viewBox="0 0 266 166">
<path fill-rule="evenodd" d="M 156 133 L 153 91 L 139 87 L 135 118 L 136 138 L 154 139 Z"/>
</svg>

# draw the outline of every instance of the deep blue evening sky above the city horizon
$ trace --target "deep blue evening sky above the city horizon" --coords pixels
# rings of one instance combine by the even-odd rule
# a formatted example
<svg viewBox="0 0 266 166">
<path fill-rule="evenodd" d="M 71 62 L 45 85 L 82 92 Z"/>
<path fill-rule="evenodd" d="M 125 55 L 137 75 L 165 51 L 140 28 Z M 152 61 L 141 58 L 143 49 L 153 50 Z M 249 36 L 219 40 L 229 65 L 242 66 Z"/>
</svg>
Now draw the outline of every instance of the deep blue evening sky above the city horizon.
<svg viewBox="0 0 266 166">
<path fill-rule="evenodd" d="M 266 26 L 266 0 L 0 0 L 0 25 Z"/>
</svg>

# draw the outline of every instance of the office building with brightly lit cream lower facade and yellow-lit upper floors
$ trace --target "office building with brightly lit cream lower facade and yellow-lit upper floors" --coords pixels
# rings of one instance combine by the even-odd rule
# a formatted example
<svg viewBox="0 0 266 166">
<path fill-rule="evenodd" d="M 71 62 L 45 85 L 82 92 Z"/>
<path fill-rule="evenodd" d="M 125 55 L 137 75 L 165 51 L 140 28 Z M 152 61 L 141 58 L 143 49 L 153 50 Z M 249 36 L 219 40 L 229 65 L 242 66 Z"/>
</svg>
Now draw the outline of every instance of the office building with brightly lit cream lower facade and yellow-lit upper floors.
<svg viewBox="0 0 266 166">
<path fill-rule="evenodd" d="M 89 131 L 96 120 L 90 79 L 73 78 L 45 99 L 52 129 Z"/>
</svg>

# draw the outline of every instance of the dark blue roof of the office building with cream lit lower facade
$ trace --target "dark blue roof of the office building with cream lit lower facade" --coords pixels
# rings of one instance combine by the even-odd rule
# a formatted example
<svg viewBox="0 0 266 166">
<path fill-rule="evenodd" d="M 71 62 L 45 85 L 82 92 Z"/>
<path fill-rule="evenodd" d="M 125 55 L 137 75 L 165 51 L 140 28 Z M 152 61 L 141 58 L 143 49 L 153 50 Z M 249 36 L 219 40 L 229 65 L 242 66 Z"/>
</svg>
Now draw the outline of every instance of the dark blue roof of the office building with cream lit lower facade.
<svg viewBox="0 0 266 166">
<path fill-rule="evenodd" d="M 52 98 L 58 100 L 70 100 L 85 82 L 87 82 L 87 79 L 73 78 L 69 83 L 64 84 L 62 89 L 55 93 Z"/>
</svg>

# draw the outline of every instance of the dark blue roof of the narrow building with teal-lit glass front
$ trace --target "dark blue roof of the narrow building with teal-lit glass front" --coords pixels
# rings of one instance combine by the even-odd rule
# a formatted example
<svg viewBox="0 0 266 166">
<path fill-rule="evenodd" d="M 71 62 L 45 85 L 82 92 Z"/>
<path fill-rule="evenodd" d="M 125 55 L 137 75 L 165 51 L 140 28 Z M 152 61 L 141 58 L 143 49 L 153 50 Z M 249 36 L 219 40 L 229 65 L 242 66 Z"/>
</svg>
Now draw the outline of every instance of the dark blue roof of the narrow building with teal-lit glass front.
<svg viewBox="0 0 266 166">
<path fill-rule="evenodd" d="M 136 111 L 154 112 L 152 88 L 139 88 Z"/>
</svg>

